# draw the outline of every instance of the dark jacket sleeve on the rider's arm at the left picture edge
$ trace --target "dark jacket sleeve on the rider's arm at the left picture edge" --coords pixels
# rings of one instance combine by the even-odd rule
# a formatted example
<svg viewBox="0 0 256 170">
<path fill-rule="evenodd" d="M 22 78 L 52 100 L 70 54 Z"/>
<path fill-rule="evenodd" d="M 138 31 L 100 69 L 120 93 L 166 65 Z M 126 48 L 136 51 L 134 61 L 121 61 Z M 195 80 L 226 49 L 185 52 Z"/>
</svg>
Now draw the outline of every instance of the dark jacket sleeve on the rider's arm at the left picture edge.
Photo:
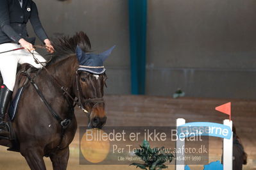
<svg viewBox="0 0 256 170">
<path fill-rule="evenodd" d="M 21 40 L 21 36 L 14 31 L 10 26 L 10 14 L 9 14 L 8 0 L 0 1 L 0 27 L 1 30 L 14 42 L 18 43 Z"/>
</svg>

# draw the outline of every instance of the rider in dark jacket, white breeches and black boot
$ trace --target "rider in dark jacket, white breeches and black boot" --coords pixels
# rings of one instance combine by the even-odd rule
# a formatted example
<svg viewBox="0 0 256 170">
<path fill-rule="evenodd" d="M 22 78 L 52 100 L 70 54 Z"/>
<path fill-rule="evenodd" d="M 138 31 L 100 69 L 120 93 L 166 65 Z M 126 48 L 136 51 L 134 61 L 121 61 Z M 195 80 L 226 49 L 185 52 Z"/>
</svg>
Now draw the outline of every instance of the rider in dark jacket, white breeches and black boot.
<svg viewBox="0 0 256 170">
<path fill-rule="evenodd" d="M 17 63 L 29 63 L 35 68 L 42 65 L 35 63 L 30 51 L 35 50 L 35 38 L 28 38 L 26 23 L 30 20 L 38 38 L 46 44 L 48 52 L 53 52 L 53 46 L 47 37 L 40 19 L 37 6 L 32 0 L 1 0 L 0 1 L 0 52 L 24 47 L 25 50 L 15 50 L 0 54 L 0 72 L 3 84 L 0 86 L 0 135 L 8 136 L 8 127 L 4 123 L 4 115 L 12 97 L 15 84 Z M 40 62 L 46 61 L 37 52 L 33 53 Z"/>
</svg>

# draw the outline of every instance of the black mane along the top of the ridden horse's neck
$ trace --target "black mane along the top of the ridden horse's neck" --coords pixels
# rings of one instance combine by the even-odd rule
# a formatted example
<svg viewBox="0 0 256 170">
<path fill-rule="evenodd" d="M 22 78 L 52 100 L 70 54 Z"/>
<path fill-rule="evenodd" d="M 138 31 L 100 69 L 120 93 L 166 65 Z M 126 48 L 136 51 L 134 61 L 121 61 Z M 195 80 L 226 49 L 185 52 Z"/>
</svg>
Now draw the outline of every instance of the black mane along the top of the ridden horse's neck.
<svg viewBox="0 0 256 170">
<path fill-rule="evenodd" d="M 72 37 L 63 36 L 62 38 L 56 38 L 51 43 L 53 44 L 55 52 L 47 66 L 58 63 L 72 54 L 75 54 L 77 45 L 79 45 L 84 52 L 90 52 L 91 47 L 90 40 L 83 31 L 76 33 L 76 35 Z"/>
</svg>

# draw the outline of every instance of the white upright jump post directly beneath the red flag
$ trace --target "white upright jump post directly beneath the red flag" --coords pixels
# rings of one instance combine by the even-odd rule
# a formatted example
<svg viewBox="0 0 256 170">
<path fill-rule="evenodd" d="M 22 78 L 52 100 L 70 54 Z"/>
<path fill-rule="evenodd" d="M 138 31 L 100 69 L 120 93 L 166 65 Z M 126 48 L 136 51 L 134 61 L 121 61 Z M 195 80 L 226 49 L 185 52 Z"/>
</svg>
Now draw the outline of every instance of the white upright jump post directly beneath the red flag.
<svg viewBox="0 0 256 170">
<path fill-rule="evenodd" d="M 224 120 L 223 124 L 230 127 L 232 131 L 232 121 Z M 223 139 L 223 170 L 232 170 L 233 164 L 233 132 L 230 139 Z"/>
</svg>

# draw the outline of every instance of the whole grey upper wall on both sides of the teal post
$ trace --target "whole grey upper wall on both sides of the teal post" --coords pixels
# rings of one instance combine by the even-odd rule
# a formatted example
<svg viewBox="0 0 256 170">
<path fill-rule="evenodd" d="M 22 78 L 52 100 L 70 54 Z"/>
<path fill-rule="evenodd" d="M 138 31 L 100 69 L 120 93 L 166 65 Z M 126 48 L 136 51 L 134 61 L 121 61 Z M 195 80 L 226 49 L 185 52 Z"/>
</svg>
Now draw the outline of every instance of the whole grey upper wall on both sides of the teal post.
<svg viewBox="0 0 256 170">
<path fill-rule="evenodd" d="M 130 93 L 128 0 L 34 1 L 52 38 L 85 31 L 96 52 L 117 45 L 106 92 Z M 182 88 L 189 97 L 256 99 L 255 20 L 254 0 L 148 0 L 146 95 Z"/>
</svg>

